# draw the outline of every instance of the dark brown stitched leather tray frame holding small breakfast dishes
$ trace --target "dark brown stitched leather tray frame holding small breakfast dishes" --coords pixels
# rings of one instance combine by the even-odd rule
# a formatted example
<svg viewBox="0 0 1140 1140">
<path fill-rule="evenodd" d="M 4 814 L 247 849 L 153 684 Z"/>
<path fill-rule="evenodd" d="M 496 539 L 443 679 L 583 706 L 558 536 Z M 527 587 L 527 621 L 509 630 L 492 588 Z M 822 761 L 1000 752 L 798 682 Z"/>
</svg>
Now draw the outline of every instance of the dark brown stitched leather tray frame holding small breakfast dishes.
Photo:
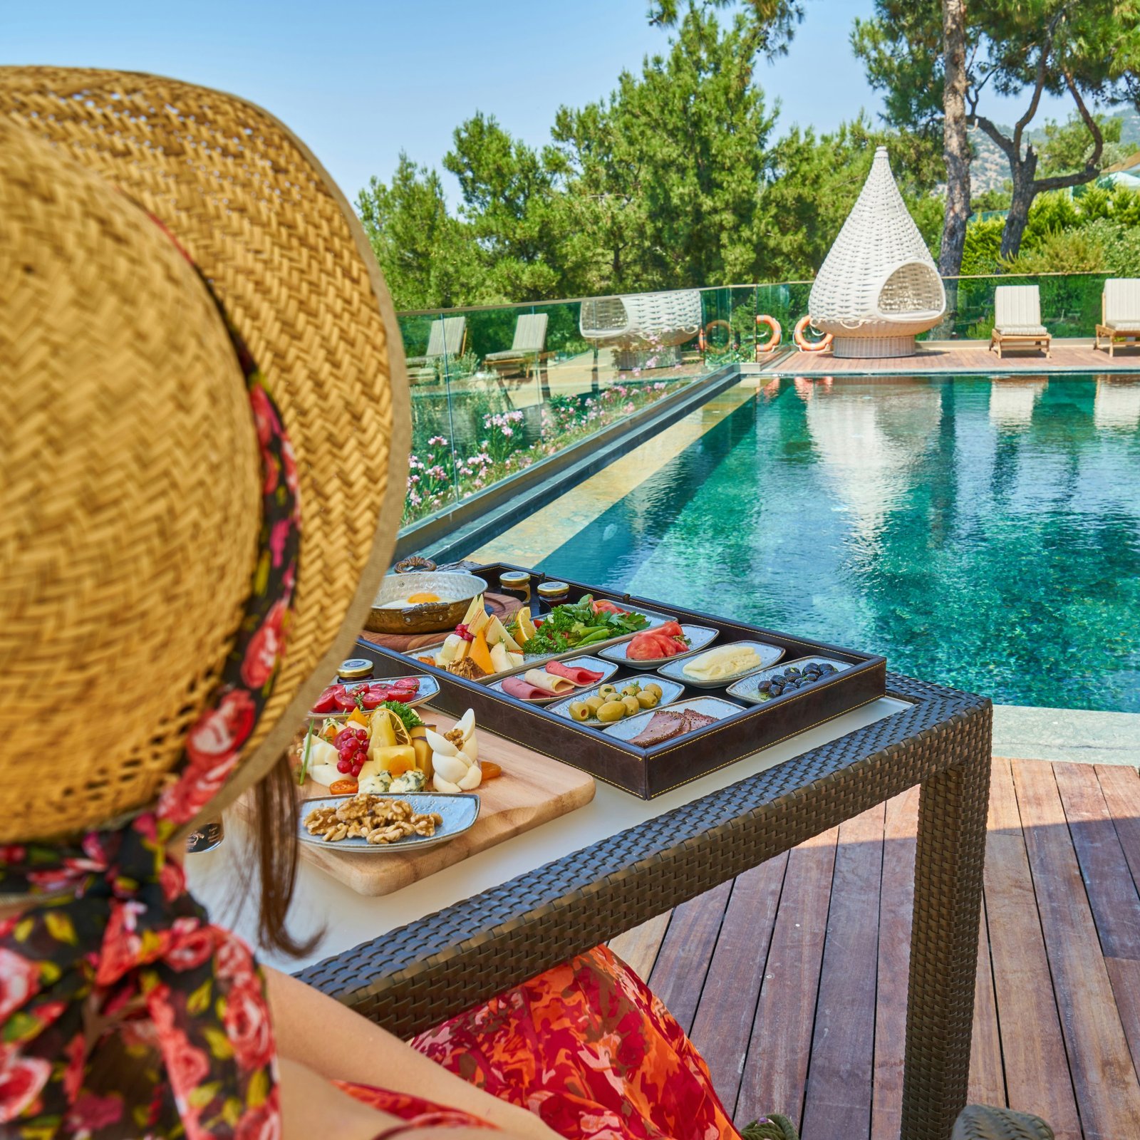
<svg viewBox="0 0 1140 1140">
<path fill-rule="evenodd" d="M 507 570 L 526 570 L 507 563 L 490 563 L 473 570 L 484 578 L 491 589 L 498 588 L 499 575 Z M 546 580 L 538 571 L 528 571 L 532 584 Z M 565 580 L 565 579 L 561 579 Z M 569 583 L 570 601 L 585 594 L 595 598 L 610 598 L 624 609 L 666 613 L 682 624 L 709 626 L 717 630 L 715 644 L 733 641 L 763 641 L 784 650 L 783 661 L 803 657 L 824 657 L 847 666 L 832 678 L 820 682 L 801 692 L 785 694 L 771 703 L 742 706 L 739 714 L 727 716 L 697 732 L 666 741 L 654 748 L 638 748 L 610 733 L 587 724 L 578 724 L 546 711 L 542 706 L 528 705 L 506 693 L 489 689 L 478 681 L 466 681 L 445 669 L 426 665 L 410 651 L 410 656 L 384 649 L 372 642 L 359 643 L 368 656 L 380 654 L 377 673 L 400 676 L 429 673 L 440 684 L 440 692 L 432 703 L 461 716 L 474 709 L 475 722 L 483 727 L 524 748 L 573 765 L 604 780 L 606 783 L 633 792 L 642 799 L 652 799 L 690 780 L 742 759 L 762 748 L 803 732 L 814 725 L 831 720 L 852 709 L 866 705 L 886 692 L 886 658 L 853 650 L 839 649 L 823 642 L 792 637 L 789 634 L 764 629 L 712 617 L 697 610 L 684 610 L 667 602 L 650 601 L 629 594 L 617 594 L 581 583 Z M 593 649 L 593 646 L 592 646 Z M 572 654 L 568 654 L 572 656 Z M 620 686 L 626 679 L 646 682 L 653 675 L 620 669 L 611 684 Z M 732 701 L 725 687 L 686 689 L 682 697 L 719 697 Z M 734 703 L 740 703 L 735 702 Z"/>
</svg>

